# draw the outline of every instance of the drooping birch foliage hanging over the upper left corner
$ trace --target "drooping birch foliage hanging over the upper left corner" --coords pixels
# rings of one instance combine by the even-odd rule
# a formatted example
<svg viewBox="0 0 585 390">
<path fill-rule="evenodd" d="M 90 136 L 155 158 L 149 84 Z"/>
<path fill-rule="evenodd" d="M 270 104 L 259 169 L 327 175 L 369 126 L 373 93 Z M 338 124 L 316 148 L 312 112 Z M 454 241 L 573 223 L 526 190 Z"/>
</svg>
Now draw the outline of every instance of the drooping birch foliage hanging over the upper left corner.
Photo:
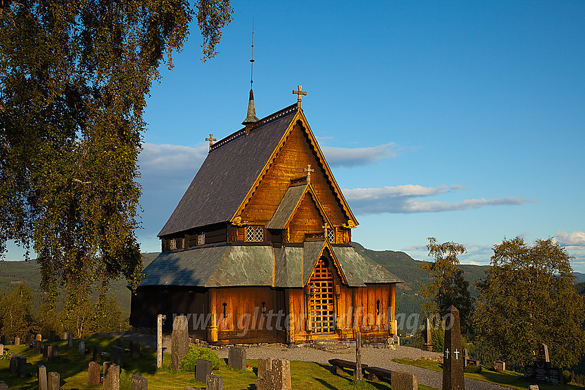
<svg viewBox="0 0 585 390">
<path fill-rule="evenodd" d="M 136 287 L 145 96 L 194 12 L 186 0 L 1 4 L 0 254 L 8 240 L 32 246 L 52 293 L 120 276 Z M 206 60 L 233 10 L 196 7 Z"/>
</svg>

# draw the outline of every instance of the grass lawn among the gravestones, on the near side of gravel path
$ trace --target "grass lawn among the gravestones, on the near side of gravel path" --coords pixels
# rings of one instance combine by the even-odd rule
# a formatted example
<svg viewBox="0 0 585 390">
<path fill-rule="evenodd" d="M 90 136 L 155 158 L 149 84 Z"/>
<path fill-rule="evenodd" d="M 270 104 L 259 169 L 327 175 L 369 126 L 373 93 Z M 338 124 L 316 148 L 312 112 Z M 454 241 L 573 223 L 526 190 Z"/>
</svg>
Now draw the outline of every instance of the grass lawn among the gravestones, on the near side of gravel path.
<svg viewBox="0 0 585 390">
<path fill-rule="evenodd" d="M 114 338 L 85 338 L 85 347 L 91 351 L 94 345 L 100 345 L 102 351 L 109 351 L 115 345 Z M 26 356 L 28 373 L 27 378 L 19 378 L 17 374 L 8 370 L 9 360 L 0 360 L 0 380 L 8 384 L 10 390 L 36 389 L 36 365 L 47 367 L 47 373 L 57 371 L 61 375 L 61 389 L 101 389 L 101 385 L 89 386 L 87 384 L 87 367 L 92 360 L 92 354 L 80 356 L 77 353 L 78 340 L 74 340 L 74 347 L 67 349 L 67 340 L 53 343 L 59 346 L 58 362 L 49 362 L 43 355 L 34 354 L 34 349 L 26 349 L 24 345 L 8 345 L 5 350 L 17 352 L 19 356 Z M 129 341 L 125 347 L 129 347 Z M 130 358 L 129 353 L 124 356 L 124 369 L 120 377 L 120 389 L 130 389 L 130 377 L 136 373 L 144 376 L 149 381 L 149 389 L 153 390 L 180 390 L 184 387 L 204 387 L 204 384 L 195 381 L 194 373 L 172 373 L 168 368 L 171 364 L 170 354 L 164 354 L 163 367 L 156 368 L 156 353 L 150 349 L 142 348 L 143 357 Z M 226 365 L 227 359 L 220 359 L 220 369 L 213 371 L 217 376 L 224 378 L 226 390 L 253 390 L 257 373 L 257 360 L 248 360 L 248 365 L 253 367 L 253 372 L 240 371 Z M 103 360 L 98 360 L 100 364 Z M 290 375 L 293 389 L 302 390 L 378 390 L 390 389 L 389 382 L 355 382 L 350 370 L 345 370 L 341 375 L 330 372 L 330 365 L 312 362 L 290 362 Z M 419 386 L 421 390 L 432 390 L 431 387 Z"/>
</svg>

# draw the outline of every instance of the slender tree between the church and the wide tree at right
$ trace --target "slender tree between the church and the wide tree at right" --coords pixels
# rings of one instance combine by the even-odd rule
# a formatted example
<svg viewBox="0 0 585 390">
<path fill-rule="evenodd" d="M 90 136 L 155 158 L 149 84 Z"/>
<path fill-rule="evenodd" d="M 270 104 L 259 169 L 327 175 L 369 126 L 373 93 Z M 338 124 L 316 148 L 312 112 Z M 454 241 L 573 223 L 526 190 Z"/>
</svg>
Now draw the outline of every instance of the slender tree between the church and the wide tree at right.
<svg viewBox="0 0 585 390">
<path fill-rule="evenodd" d="M 439 244 L 434 237 L 429 237 L 427 249 L 435 261 L 419 266 L 431 277 L 427 284 L 421 285 L 421 295 L 431 299 L 421 307 L 421 311 L 427 315 L 444 314 L 451 305 L 455 305 L 460 314 L 461 332 L 467 333 L 471 329 L 473 303 L 469 283 L 465 281 L 457 259 L 458 254 L 466 252 L 465 246 L 454 242 Z"/>
</svg>

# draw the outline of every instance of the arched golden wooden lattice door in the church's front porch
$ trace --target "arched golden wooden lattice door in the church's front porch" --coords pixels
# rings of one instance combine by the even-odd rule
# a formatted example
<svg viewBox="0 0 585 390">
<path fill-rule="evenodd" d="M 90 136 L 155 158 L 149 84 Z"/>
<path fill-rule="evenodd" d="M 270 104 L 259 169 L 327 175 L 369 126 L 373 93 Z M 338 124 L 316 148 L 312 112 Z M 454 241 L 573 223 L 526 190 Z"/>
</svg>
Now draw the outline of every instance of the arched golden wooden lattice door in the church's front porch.
<svg viewBox="0 0 585 390">
<path fill-rule="evenodd" d="M 335 314 L 333 303 L 333 274 L 325 261 L 319 259 L 309 279 L 310 316 L 315 333 L 333 333 Z"/>
</svg>

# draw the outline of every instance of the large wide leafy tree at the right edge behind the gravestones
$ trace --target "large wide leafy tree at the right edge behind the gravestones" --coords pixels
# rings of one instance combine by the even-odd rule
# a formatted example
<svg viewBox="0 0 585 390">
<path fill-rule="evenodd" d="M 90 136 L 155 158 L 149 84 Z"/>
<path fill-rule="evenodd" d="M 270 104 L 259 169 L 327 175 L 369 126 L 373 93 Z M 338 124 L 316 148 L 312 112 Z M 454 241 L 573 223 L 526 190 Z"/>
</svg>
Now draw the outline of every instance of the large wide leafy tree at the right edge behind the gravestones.
<svg viewBox="0 0 585 390">
<path fill-rule="evenodd" d="M 575 365 L 585 352 L 585 303 L 574 280 L 571 256 L 553 239 L 528 246 L 516 237 L 495 245 L 487 279 L 478 283 L 482 347 L 520 366 L 546 343 L 553 365 Z"/>
</svg>

